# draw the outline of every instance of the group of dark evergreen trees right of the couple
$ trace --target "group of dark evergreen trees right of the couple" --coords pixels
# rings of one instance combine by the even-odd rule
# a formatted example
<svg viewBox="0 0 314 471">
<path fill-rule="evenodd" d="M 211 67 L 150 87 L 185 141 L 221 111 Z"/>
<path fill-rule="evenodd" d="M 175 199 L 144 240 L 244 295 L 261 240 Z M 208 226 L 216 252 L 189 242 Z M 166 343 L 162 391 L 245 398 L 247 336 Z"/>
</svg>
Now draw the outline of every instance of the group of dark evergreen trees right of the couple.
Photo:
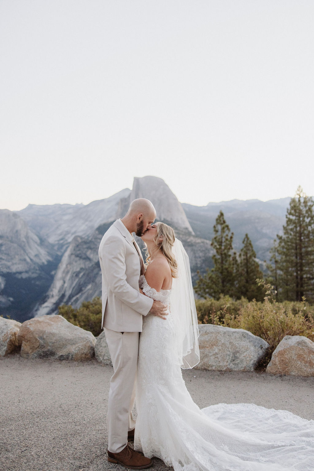
<svg viewBox="0 0 314 471">
<path fill-rule="evenodd" d="M 199 273 L 194 287 L 201 298 L 218 300 L 228 295 L 261 301 L 265 296 L 263 273 L 248 234 L 242 249 L 233 251 L 233 232 L 219 212 L 213 228 L 211 246 L 214 267 L 205 275 Z M 277 235 L 266 265 L 265 282 L 272 285 L 277 301 L 307 301 L 314 303 L 314 201 L 301 187 L 291 198 L 286 213 L 283 235 Z"/>
</svg>

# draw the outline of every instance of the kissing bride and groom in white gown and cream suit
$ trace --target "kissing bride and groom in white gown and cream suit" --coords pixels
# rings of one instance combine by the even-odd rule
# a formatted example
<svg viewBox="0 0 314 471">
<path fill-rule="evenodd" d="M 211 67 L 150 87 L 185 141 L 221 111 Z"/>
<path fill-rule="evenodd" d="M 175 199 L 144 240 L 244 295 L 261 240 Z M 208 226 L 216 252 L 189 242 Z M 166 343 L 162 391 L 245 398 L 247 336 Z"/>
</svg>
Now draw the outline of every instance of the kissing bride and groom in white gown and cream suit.
<svg viewBox="0 0 314 471">
<path fill-rule="evenodd" d="M 157 457 L 175 471 L 313 471 L 313 420 L 255 404 L 193 402 L 181 371 L 200 359 L 189 259 L 173 228 L 155 218 L 153 204 L 136 199 L 99 246 L 114 372 L 108 461 L 131 469 Z M 145 243 L 145 262 L 133 233 Z"/>
</svg>

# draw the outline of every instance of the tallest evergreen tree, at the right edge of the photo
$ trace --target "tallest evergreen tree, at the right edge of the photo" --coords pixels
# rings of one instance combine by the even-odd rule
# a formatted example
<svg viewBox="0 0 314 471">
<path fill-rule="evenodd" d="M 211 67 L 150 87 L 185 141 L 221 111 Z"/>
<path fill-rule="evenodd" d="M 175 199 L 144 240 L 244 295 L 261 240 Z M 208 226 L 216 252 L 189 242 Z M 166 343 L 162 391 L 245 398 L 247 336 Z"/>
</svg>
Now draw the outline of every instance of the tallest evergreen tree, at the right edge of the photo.
<svg viewBox="0 0 314 471">
<path fill-rule="evenodd" d="M 314 201 L 298 187 L 278 237 L 278 287 L 282 299 L 314 301 Z"/>
</svg>

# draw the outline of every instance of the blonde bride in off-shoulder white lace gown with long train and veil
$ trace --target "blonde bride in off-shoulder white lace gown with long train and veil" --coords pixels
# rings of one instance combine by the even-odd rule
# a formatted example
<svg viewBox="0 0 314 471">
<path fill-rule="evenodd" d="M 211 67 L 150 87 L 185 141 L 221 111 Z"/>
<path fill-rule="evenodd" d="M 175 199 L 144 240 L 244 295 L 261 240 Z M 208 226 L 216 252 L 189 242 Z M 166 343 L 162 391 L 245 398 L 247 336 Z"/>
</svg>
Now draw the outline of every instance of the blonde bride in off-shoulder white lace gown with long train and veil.
<svg viewBox="0 0 314 471">
<path fill-rule="evenodd" d="M 200 409 L 181 368 L 199 362 L 189 261 L 171 227 L 142 235 L 148 251 L 140 288 L 169 308 L 143 317 L 137 364 L 134 447 L 175 471 L 313 471 L 314 421 L 255 404 Z"/>
</svg>

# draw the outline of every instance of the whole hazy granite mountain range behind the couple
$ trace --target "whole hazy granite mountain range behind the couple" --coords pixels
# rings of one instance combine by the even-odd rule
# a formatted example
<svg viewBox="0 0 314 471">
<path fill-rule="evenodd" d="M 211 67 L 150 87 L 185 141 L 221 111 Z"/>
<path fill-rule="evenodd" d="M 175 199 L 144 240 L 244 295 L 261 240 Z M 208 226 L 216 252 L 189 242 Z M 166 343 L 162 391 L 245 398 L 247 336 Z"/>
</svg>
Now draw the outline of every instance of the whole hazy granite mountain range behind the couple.
<svg viewBox="0 0 314 471">
<path fill-rule="evenodd" d="M 103 200 L 84 204 L 28 205 L 24 210 L 0 210 L 0 313 L 23 322 L 34 315 L 56 312 L 62 303 L 81 305 L 101 294 L 98 245 L 106 228 L 123 217 L 135 198 L 150 199 L 156 220 L 172 225 L 188 252 L 193 281 L 196 271 L 212 267 L 213 225 L 220 209 L 240 250 L 247 232 L 257 257 L 265 260 L 276 234 L 282 231 L 290 198 L 181 204 L 157 177 L 135 178 Z M 141 244 L 141 241 L 139 240 Z"/>
</svg>

